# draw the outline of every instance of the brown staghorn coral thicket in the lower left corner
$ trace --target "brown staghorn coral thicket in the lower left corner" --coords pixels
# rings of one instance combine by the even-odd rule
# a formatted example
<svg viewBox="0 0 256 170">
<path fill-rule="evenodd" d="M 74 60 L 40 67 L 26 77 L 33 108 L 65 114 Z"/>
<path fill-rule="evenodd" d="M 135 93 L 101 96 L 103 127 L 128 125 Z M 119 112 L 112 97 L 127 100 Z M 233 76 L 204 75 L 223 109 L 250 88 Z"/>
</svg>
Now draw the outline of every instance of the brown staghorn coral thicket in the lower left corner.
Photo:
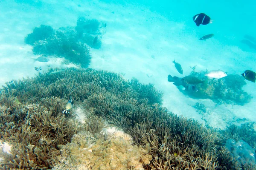
<svg viewBox="0 0 256 170">
<path fill-rule="evenodd" d="M 6 154 L 1 161 L 2 168 L 52 167 L 55 157 L 60 154 L 57 145 L 69 142 L 77 131 L 77 123 L 68 121 L 61 114 L 61 102 L 52 97 L 42 99 L 40 105 L 17 104 L 15 99 L 2 94 L 0 136 L 1 140 L 12 144 L 11 154 Z"/>
</svg>

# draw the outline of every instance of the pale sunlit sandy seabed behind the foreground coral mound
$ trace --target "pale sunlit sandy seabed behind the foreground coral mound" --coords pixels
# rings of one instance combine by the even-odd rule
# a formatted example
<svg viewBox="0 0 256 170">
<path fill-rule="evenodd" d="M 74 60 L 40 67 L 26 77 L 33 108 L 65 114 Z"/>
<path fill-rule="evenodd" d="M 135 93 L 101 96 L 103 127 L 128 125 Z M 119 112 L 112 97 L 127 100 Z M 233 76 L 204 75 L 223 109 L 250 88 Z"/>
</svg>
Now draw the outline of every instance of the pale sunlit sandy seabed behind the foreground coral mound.
<svg viewBox="0 0 256 170">
<path fill-rule="evenodd" d="M 210 40 L 198 41 L 198 38 L 209 32 L 206 26 L 195 26 L 192 14 L 184 21 L 180 21 L 179 16 L 179 22 L 175 22 L 175 16 L 167 18 L 145 6 L 132 4 L 122 6 L 98 0 L 42 2 L 38 8 L 33 4 L 20 4 L 11 0 L 0 2 L 1 85 L 12 79 L 34 76 L 37 74 L 35 66 L 41 66 L 44 71 L 49 66 L 67 67 L 56 62 L 56 59 L 33 62 L 30 58 L 37 56 L 32 54 L 31 46 L 24 45 L 24 38 L 41 24 L 53 28 L 76 26 L 77 17 L 84 16 L 107 23 L 102 47 L 91 49 L 90 68 L 121 72 L 125 73 L 127 79 L 135 77 L 140 82 L 153 83 L 157 89 L 163 91 L 163 106 L 169 111 L 204 123 L 202 115 L 192 108 L 196 102 L 202 102 L 208 111 L 203 118 L 212 127 L 224 128 L 227 122 L 234 122 L 238 118 L 256 121 L 256 92 L 252 82 L 247 81 L 244 89 L 254 98 L 244 106 L 215 106 L 209 99 L 191 99 L 180 93 L 175 85 L 167 82 L 168 74 L 182 77 L 172 63 L 174 59 L 182 65 L 183 76 L 188 75 L 192 71 L 190 67 L 195 65 L 198 71 L 221 69 L 228 74 L 241 74 L 244 70 L 254 69 L 251 62 L 255 61 L 255 51 L 245 52 L 237 43 L 227 43 L 239 42 L 240 37 L 236 38 L 233 34 L 223 35 L 218 21 L 208 28 L 211 31 L 218 28 L 216 32 L 219 34 Z"/>
</svg>

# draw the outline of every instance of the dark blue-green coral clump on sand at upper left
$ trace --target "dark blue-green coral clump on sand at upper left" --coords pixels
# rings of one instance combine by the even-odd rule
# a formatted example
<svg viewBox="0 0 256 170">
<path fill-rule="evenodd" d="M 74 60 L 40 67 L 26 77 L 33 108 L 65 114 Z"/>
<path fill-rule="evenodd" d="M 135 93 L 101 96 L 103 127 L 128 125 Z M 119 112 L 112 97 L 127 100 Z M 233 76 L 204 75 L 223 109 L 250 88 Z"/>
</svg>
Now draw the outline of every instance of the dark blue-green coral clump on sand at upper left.
<svg viewBox="0 0 256 170">
<path fill-rule="evenodd" d="M 36 27 L 25 38 L 25 43 L 33 46 L 33 53 L 44 56 L 64 57 L 82 68 L 90 64 L 91 48 L 101 47 L 102 32 L 97 20 L 79 17 L 76 27 L 61 27 L 54 30 L 51 26 Z M 100 27 L 103 28 L 103 27 Z"/>
</svg>

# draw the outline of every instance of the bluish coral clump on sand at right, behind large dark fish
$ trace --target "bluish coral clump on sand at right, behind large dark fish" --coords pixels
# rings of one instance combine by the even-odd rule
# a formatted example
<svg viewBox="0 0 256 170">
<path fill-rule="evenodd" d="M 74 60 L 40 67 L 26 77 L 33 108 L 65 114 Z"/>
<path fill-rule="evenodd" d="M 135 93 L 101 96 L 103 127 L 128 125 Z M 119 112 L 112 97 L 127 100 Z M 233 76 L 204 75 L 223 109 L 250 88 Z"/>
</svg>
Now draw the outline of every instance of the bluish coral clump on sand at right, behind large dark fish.
<svg viewBox="0 0 256 170">
<path fill-rule="evenodd" d="M 196 72 L 195 67 L 192 69 L 193 71 L 190 75 L 198 77 L 199 79 L 205 79 L 205 81 L 197 85 L 197 92 L 188 93 L 187 95 L 201 99 L 212 99 L 217 103 L 237 105 L 244 105 L 252 99 L 252 96 L 242 90 L 246 82 L 241 75 L 229 74 L 221 79 L 207 79 L 207 77 L 204 77 L 207 70 Z M 186 91 L 184 91 L 184 93 L 186 93 Z"/>
</svg>

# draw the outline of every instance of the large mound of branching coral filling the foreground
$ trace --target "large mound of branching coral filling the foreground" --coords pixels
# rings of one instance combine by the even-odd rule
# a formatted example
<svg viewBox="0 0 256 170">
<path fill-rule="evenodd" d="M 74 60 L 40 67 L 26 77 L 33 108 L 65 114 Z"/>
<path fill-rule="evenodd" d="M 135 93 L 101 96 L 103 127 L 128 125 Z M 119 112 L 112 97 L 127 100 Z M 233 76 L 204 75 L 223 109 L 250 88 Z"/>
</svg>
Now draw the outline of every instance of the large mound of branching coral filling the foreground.
<svg viewBox="0 0 256 170">
<path fill-rule="evenodd" d="M 6 156 L 2 167 L 44 169 L 58 168 L 61 164 L 72 169 L 77 168 L 73 167 L 77 162 L 65 159 L 65 155 L 73 153 L 72 158 L 81 159 L 81 154 L 87 153 L 102 158 L 101 161 L 108 156 L 131 154 L 135 156 L 131 160 L 117 157 L 131 169 L 239 168 L 228 150 L 222 150 L 222 154 L 217 152 L 219 145 L 216 142 L 221 140 L 218 132 L 169 113 L 161 107 L 163 94 L 153 85 L 143 85 L 136 79 L 127 81 L 119 74 L 93 69 L 68 68 L 54 74 L 52 71 L 7 82 L 1 89 L 0 136 L 3 142 L 13 145 L 13 154 Z M 84 123 L 77 122 L 72 116 L 65 118 L 61 113 L 70 95 L 75 103 L 73 109 L 79 106 L 86 112 Z M 99 131 L 105 127 L 105 122 L 121 128 L 128 136 L 125 140 L 117 134 L 101 137 Z M 84 130 L 87 132 L 82 137 Z M 129 136 L 132 136 L 133 144 Z M 79 139 L 83 142 L 78 142 Z M 93 144 L 91 148 L 95 152 L 88 150 L 89 144 Z M 126 149 L 119 150 L 121 153 L 118 154 L 121 146 Z M 115 155 L 109 152 L 111 147 L 115 148 Z M 128 147 L 133 150 L 127 150 Z M 141 148 L 144 150 L 138 151 Z M 76 157 L 76 153 L 80 155 Z M 79 166 L 88 166 L 88 159 L 78 162 Z"/>
</svg>

